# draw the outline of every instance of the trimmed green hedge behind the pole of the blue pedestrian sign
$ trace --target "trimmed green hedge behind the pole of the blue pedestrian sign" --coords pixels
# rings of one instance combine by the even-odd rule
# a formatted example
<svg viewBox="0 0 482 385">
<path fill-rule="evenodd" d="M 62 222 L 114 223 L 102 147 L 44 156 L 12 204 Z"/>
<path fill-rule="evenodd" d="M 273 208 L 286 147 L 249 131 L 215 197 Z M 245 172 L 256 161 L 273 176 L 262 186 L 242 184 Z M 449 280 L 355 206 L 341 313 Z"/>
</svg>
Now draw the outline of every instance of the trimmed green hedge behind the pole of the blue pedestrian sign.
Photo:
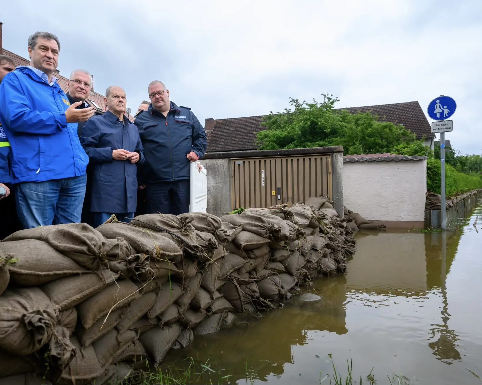
<svg viewBox="0 0 482 385">
<path fill-rule="evenodd" d="M 459 173 L 445 164 L 445 195 L 452 197 L 476 188 L 482 188 L 482 178 Z M 427 159 L 427 190 L 440 194 L 440 159 Z"/>
</svg>

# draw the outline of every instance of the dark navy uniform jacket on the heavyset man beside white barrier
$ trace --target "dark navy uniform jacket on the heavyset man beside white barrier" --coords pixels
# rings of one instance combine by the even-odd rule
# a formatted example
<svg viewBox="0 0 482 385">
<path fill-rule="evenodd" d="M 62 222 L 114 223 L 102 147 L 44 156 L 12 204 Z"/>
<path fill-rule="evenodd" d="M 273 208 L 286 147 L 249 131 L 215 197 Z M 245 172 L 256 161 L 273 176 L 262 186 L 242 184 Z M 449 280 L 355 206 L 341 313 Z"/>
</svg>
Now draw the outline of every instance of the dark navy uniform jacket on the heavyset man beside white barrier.
<svg viewBox="0 0 482 385">
<path fill-rule="evenodd" d="M 149 105 L 147 111 L 137 115 L 134 124 L 139 129 L 146 156 L 143 182 L 189 179 L 187 154 L 194 151 L 201 158 L 207 147 L 204 128 L 191 109 L 171 102 L 171 110 L 165 118 Z"/>
</svg>

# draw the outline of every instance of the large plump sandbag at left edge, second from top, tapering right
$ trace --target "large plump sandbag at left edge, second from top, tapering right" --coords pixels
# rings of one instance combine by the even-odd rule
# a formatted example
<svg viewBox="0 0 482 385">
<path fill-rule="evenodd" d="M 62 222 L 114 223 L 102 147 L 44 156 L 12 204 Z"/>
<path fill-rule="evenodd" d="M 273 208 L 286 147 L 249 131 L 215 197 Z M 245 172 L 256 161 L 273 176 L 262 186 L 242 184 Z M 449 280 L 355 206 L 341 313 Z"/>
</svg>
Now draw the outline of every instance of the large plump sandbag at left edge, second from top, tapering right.
<svg viewBox="0 0 482 385">
<path fill-rule="evenodd" d="M 15 263 L 9 264 L 10 280 L 17 286 L 38 286 L 89 271 L 47 242 L 36 239 L 0 242 L 0 252 L 13 256 Z"/>
</svg>

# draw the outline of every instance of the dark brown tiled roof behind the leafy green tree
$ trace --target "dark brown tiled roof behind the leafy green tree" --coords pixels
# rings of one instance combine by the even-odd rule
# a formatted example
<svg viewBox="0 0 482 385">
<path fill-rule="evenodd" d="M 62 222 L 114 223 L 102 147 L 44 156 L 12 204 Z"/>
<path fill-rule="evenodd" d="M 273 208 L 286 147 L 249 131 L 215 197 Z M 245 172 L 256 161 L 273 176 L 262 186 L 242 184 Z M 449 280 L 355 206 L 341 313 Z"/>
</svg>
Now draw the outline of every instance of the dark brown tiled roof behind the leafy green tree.
<svg viewBox="0 0 482 385">
<path fill-rule="evenodd" d="M 417 139 L 422 139 L 424 136 L 427 139 L 435 138 L 435 134 L 432 133 L 430 124 L 418 102 L 337 108 L 336 110 L 348 110 L 352 114 L 356 114 L 358 111 L 370 111 L 378 115 L 380 121 L 402 124 L 412 133 L 415 133 Z M 256 133 L 264 130 L 264 127 L 261 126 L 261 119 L 264 117 L 265 115 L 258 115 L 244 118 L 215 119 L 214 127 L 210 130 L 206 129 L 208 138 L 207 151 L 257 149 Z"/>
</svg>

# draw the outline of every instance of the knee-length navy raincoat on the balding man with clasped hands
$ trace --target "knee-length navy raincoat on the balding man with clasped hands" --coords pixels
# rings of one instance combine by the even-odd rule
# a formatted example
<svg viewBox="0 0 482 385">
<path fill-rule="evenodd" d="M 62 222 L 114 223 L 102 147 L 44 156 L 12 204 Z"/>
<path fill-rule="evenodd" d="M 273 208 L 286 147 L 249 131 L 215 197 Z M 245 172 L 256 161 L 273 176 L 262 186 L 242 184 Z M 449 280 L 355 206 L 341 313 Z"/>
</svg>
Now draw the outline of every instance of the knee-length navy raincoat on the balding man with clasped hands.
<svg viewBox="0 0 482 385">
<path fill-rule="evenodd" d="M 144 148 L 137 127 L 124 115 L 121 122 L 112 112 L 87 120 L 80 143 L 93 165 L 92 212 L 135 212 L 137 164 L 144 163 Z M 112 151 L 138 152 L 139 161 L 112 159 Z"/>
</svg>

